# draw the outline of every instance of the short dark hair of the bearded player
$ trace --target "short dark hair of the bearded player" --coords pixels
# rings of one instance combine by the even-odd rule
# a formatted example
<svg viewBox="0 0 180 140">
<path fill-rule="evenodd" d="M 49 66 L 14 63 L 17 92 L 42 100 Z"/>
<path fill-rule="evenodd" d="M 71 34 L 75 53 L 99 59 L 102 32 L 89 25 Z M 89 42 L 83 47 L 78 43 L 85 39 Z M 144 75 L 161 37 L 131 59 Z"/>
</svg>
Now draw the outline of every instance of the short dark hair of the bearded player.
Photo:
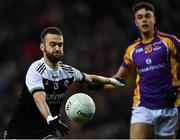
<svg viewBox="0 0 180 140">
<path fill-rule="evenodd" d="M 44 42 L 44 38 L 46 37 L 48 33 L 62 36 L 62 32 L 58 27 L 47 27 L 41 32 L 41 35 L 40 35 L 41 42 Z"/>
</svg>

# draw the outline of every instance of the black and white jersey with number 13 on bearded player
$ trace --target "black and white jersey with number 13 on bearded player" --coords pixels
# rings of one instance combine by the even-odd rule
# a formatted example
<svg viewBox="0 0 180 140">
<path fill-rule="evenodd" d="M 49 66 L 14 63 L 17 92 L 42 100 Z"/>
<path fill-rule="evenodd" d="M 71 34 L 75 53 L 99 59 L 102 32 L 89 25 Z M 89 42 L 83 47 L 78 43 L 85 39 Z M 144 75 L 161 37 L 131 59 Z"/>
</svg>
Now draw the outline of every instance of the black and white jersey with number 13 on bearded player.
<svg viewBox="0 0 180 140">
<path fill-rule="evenodd" d="M 83 80 L 84 74 L 69 65 L 60 63 L 58 69 L 52 69 L 43 58 L 35 61 L 27 71 L 23 92 L 8 127 L 15 128 L 17 133 L 30 135 L 48 132 L 46 119 L 39 112 L 32 94 L 45 91 L 46 102 L 55 116 L 59 114 L 68 86 Z"/>
</svg>

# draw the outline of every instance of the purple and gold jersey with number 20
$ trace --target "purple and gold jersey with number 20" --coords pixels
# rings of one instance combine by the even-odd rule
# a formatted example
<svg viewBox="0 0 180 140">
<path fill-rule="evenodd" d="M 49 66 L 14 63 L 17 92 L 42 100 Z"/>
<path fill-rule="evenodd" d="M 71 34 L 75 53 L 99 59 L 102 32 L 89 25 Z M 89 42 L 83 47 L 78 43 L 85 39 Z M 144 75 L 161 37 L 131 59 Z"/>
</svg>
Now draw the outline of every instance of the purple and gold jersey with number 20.
<svg viewBox="0 0 180 140">
<path fill-rule="evenodd" d="M 165 92 L 177 84 L 177 58 L 180 41 L 159 31 L 148 41 L 138 39 L 127 48 L 122 66 L 137 71 L 134 107 L 167 107 Z"/>
</svg>

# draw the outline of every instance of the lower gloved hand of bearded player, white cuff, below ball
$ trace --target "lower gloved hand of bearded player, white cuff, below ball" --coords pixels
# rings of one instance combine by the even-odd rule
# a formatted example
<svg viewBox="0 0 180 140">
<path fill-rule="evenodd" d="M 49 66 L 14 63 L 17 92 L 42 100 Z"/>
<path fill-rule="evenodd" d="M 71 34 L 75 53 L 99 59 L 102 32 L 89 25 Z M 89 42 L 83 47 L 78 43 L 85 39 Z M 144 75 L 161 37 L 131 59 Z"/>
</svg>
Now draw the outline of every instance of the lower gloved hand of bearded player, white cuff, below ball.
<svg viewBox="0 0 180 140">
<path fill-rule="evenodd" d="M 47 117 L 47 123 L 52 129 L 58 130 L 62 136 L 64 136 L 65 134 L 66 135 L 69 134 L 68 126 L 61 122 L 60 116 L 55 116 L 55 117 L 48 116 L 48 117 Z"/>
</svg>

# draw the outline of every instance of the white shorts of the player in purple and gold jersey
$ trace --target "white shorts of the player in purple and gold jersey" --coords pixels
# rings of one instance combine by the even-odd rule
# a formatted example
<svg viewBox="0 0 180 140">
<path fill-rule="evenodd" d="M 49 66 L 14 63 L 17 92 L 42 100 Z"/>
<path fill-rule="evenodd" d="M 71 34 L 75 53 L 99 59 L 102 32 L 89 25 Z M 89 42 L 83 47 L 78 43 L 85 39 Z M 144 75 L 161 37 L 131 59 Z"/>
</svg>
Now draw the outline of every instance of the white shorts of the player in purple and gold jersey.
<svg viewBox="0 0 180 140">
<path fill-rule="evenodd" d="M 136 107 L 131 117 L 131 124 L 134 123 L 152 124 L 154 133 L 159 136 L 175 135 L 178 128 L 178 110 L 176 107 L 169 109 Z"/>
</svg>

